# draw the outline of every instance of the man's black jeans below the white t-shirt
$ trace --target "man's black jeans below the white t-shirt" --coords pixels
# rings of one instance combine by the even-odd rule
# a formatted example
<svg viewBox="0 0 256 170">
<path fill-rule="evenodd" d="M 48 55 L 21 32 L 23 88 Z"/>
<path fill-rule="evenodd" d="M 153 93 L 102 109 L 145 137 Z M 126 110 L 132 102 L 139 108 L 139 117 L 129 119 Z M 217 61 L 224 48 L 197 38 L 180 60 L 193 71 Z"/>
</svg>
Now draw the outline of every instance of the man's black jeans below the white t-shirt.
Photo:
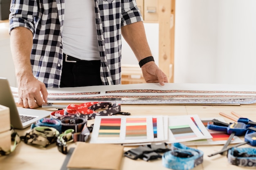
<svg viewBox="0 0 256 170">
<path fill-rule="evenodd" d="M 68 57 L 68 59 L 76 62 L 66 62 L 64 57 L 60 87 L 102 85 L 100 60 L 86 61 L 74 57 Z"/>
</svg>

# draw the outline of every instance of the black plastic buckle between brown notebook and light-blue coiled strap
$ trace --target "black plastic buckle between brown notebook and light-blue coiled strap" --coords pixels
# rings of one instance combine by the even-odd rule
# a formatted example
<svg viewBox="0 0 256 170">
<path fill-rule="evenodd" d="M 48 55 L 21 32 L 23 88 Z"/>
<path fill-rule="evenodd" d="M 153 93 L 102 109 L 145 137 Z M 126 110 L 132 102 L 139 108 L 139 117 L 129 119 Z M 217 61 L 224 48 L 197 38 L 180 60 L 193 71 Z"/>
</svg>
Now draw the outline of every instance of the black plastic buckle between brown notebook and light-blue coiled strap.
<svg viewBox="0 0 256 170">
<path fill-rule="evenodd" d="M 139 146 L 135 149 L 130 149 L 124 153 L 124 156 L 130 158 L 130 159 L 138 159 L 142 158 L 144 154 L 153 152 L 153 150 L 147 146 Z"/>
</svg>

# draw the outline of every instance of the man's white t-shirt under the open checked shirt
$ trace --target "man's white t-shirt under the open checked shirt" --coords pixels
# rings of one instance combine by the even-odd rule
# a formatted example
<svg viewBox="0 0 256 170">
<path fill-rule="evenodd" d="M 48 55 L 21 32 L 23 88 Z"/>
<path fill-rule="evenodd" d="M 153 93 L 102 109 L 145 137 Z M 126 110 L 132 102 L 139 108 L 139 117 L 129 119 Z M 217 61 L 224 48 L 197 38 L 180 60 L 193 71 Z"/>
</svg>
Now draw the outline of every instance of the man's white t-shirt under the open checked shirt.
<svg viewBox="0 0 256 170">
<path fill-rule="evenodd" d="M 100 60 L 94 0 L 65 0 L 63 53 L 81 60 Z"/>
</svg>

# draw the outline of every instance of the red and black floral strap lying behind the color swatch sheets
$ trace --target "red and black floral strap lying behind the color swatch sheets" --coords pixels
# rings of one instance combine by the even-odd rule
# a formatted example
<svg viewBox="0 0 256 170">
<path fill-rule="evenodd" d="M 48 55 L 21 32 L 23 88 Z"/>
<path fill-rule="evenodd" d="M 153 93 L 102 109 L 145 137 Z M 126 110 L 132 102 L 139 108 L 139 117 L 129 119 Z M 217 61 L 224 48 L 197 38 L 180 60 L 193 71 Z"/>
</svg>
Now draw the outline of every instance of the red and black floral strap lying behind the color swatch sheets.
<svg viewBox="0 0 256 170">
<path fill-rule="evenodd" d="M 96 110 L 103 109 L 99 112 Z M 87 102 L 80 105 L 69 104 L 63 110 L 57 110 L 51 113 L 51 118 L 85 118 L 87 120 L 94 119 L 95 116 L 110 116 L 121 112 L 121 105 L 110 102 Z"/>
</svg>

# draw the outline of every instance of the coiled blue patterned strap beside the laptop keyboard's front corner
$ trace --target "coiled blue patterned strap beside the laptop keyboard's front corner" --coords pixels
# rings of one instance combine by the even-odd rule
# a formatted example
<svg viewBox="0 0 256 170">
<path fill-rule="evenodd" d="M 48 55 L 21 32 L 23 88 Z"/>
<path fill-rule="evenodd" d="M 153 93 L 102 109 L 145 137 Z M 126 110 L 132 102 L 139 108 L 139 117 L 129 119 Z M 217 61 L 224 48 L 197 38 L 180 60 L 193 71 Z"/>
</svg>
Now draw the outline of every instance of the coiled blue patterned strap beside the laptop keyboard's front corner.
<svg viewBox="0 0 256 170">
<path fill-rule="evenodd" d="M 31 124 L 31 129 L 33 129 L 36 126 L 48 126 L 48 127 L 57 129 L 60 133 L 62 132 L 61 121 L 58 119 L 47 118 L 47 117 L 40 119 L 36 123 Z"/>
</svg>

